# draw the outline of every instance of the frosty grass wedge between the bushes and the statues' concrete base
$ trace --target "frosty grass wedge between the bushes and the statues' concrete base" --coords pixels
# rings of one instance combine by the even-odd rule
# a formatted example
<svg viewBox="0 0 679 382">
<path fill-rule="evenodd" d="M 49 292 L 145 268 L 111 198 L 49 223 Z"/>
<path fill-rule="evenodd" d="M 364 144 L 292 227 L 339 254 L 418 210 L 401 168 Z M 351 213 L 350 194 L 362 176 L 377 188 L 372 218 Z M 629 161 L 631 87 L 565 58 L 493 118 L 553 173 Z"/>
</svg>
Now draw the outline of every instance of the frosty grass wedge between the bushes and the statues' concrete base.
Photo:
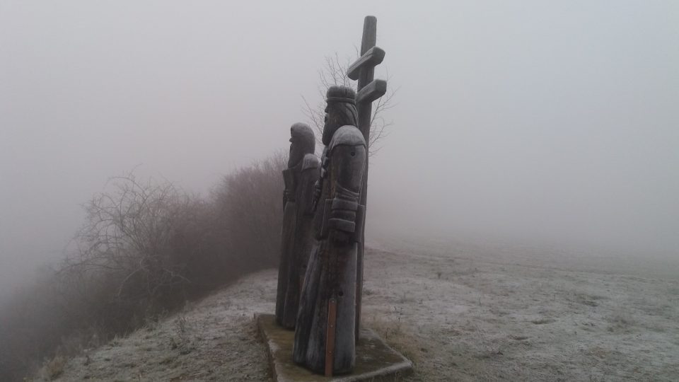
<svg viewBox="0 0 679 382">
<path fill-rule="evenodd" d="M 267 381 L 255 312 L 274 310 L 277 272 L 267 270 L 156 325 L 71 359 L 57 381 Z"/>
</svg>

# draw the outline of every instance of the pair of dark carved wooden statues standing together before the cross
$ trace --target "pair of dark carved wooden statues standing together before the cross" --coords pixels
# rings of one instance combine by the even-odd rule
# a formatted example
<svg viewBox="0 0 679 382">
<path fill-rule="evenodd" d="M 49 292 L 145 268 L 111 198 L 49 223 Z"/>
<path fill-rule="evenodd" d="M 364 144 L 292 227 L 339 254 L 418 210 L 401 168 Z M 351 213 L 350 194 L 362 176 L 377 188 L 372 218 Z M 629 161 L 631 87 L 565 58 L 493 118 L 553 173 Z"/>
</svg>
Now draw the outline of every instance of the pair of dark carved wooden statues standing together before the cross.
<svg viewBox="0 0 679 382">
<path fill-rule="evenodd" d="M 367 148 L 356 127 L 356 94 L 327 91 L 323 155 L 308 125 L 290 129 L 276 320 L 294 329 L 293 358 L 319 374 L 354 369 L 356 251 L 365 207 L 359 205 Z"/>
</svg>

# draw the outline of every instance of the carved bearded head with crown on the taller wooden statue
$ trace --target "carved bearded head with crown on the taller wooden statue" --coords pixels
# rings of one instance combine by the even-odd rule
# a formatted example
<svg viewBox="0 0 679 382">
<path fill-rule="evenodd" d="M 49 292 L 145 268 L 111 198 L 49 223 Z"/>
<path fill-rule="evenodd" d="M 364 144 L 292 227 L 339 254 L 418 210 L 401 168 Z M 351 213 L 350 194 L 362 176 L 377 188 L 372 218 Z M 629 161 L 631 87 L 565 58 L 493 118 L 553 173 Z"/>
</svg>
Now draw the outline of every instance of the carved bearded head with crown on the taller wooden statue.
<svg viewBox="0 0 679 382">
<path fill-rule="evenodd" d="M 340 127 L 358 125 L 359 115 L 356 113 L 356 93 L 347 86 L 330 86 L 325 102 L 323 144 L 327 145 Z"/>
</svg>

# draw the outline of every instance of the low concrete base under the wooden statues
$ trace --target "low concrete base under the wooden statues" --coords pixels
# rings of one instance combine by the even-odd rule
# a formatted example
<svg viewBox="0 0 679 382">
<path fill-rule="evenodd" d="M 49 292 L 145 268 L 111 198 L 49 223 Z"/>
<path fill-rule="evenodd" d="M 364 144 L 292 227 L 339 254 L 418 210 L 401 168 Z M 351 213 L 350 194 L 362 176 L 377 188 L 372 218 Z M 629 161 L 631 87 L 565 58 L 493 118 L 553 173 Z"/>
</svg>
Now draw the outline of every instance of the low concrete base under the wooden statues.
<svg viewBox="0 0 679 382">
<path fill-rule="evenodd" d="M 361 329 L 356 347 L 356 368 L 352 374 L 326 378 L 296 365 L 292 361 L 294 332 L 276 324 L 274 315 L 255 313 L 255 323 L 269 349 L 269 362 L 276 382 L 311 381 L 395 381 L 412 372 L 412 363 L 385 344 L 369 329 Z"/>
</svg>

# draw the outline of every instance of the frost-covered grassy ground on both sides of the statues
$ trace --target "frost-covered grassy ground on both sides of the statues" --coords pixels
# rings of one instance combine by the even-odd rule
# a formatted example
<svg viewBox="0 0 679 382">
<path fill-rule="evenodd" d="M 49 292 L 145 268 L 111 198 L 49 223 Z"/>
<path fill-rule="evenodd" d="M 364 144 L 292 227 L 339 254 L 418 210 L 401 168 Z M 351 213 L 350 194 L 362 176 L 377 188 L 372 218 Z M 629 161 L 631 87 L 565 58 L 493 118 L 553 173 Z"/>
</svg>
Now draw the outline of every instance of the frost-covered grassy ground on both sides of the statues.
<svg viewBox="0 0 679 382">
<path fill-rule="evenodd" d="M 414 361 L 405 381 L 679 379 L 677 273 L 389 243 L 366 253 L 364 324 Z M 267 381 L 253 313 L 274 310 L 276 285 L 274 270 L 244 277 L 59 380 Z"/>
</svg>

